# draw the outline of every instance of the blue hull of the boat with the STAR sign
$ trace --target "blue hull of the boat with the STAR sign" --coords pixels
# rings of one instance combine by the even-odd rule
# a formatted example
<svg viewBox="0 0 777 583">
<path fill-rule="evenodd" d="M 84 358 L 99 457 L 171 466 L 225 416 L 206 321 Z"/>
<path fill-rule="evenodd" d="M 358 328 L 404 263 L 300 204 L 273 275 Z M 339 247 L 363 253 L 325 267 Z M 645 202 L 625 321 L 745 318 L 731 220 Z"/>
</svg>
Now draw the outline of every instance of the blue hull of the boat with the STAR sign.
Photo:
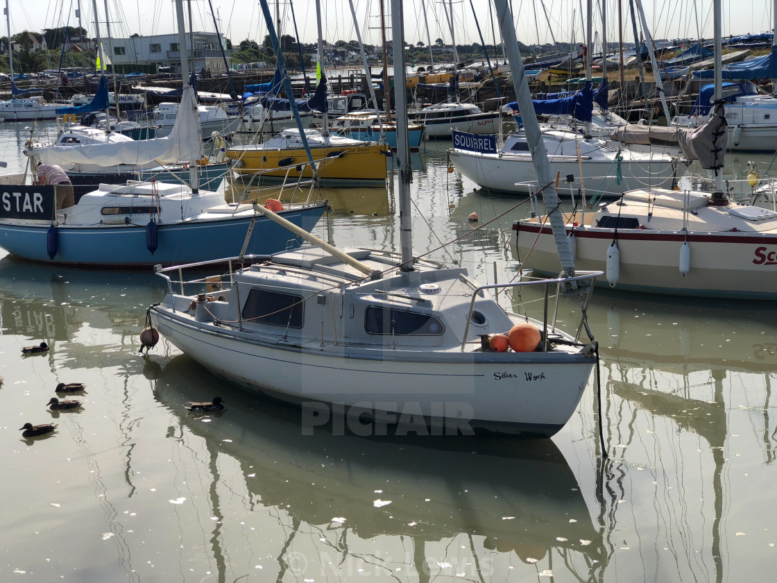
<svg viewBox="0 0 777 583">
<path fill-rule="evenodd" d="M 325 205 L 280 213 L 306 231 L 325 210 Z M 57 253 L 48 256 L 49 225 L 0 223 L 0 246 L 16 257 L 47 264 L 105 267 L 145 267 L 218 260 L 240 254 L 251 219 L 218 218 L 157 225 L 158 247 L 146 246 L 145 225 L 57 226 Z M 298 246 L 301 239 L 269 218 L 256 217 L 246 254 L 267 255 Z"/>
</svg>

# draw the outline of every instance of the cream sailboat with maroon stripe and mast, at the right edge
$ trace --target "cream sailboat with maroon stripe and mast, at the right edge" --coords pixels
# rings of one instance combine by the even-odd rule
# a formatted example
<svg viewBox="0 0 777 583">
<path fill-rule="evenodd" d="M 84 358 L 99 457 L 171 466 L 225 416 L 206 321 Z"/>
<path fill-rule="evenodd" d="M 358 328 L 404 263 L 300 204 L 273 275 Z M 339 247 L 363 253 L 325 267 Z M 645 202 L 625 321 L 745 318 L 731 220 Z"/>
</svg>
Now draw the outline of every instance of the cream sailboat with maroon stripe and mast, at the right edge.
<svg viewBox="0 0 777 583">
<path fill-rule="evenodd" d="M 716 193 L 639 189 L 595 213 L 566 215 L 580 267 L 607 271 L 616 289 L 721 298 L 777 299 L 777 212 L 735 204 L 723 193 L 726 117 L 721 100 L 720 0 L 715 2 L 716 111 L 695 131 L 629 126 L 650 143 L 674 134 L 686 155 L 716 173 Z M 697 143 L 694 143 L 699 140 Z M 694 155 L 695 153 L 695 155 Z M 514 257 L 522 267 L 555 274 L 553 235 L 533 218 L 514 223 Z"/>
</svg>

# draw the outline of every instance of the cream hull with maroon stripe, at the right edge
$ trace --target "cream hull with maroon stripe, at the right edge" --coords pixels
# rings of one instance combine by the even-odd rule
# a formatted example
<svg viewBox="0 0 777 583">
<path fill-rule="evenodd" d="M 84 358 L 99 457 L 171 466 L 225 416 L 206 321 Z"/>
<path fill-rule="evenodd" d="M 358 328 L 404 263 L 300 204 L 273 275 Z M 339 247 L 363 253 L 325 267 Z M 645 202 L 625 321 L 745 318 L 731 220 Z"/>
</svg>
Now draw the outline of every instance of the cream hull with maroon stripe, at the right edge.
<svg viewBox="0 0 777 583">
<path fill-rule="evenodd" d="M 570 232 L 571 229 L 567 229 Z M 611 229 L 575 229 L 575 267 L 607 271 Z M 690 270 L 680 273 L 681 246 L 690 246 Z M 559 258 L 548 227 L 519 222 L 510 238 L 513 257 L 542 274 L 558 274 Z M 531 255 L 527 257 L 529 249 Z M 777 236 L 742 232 L 657 232 L 618 229 L 618 281 L 614 288 L 632 292 L 710 298 L 777 299 Z M 649 250 L 649 251 L 647 251 Z M 703 267 L 700 267 L 703 266 Z M 610 287 L 605 278 L 597 285 Z"/>
</svg>

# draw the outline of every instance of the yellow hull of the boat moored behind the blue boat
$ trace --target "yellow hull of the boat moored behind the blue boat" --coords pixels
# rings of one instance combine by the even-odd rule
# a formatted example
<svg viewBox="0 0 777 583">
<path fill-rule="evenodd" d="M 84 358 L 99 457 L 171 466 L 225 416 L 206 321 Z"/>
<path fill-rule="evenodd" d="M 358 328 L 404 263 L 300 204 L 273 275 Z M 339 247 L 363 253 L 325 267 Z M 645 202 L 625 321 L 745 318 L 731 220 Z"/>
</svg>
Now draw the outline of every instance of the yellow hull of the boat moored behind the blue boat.
<svg viewBox="0 0 777 583">
<path fill-rule="evenodd" d="M 385 145 L 328 146 L 311 148 L 319 168 L 322 183 L 385 183 L 387 148 Z M 251 175 L 261 173 L 263 179 L 284 180 L 312 178 L 309 164 L 294 166 L 308 161 L 305 148 L 263 149 L 261 146 L 232 148 L 227 157 L 237 161 L 236 173 Z"/>
</svg>

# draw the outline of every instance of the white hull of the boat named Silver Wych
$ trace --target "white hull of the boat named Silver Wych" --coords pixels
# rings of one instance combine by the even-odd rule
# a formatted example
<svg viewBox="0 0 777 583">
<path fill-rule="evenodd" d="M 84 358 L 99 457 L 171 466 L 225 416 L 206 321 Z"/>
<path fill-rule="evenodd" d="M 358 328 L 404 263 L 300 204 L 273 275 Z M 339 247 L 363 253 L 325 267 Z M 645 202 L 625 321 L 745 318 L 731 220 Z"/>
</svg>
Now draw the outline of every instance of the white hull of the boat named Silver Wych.
<svg viewBox="0 0 777 583">
<path fill-rule="evenodd" d="M 547 438 L 577 408 L 594 366 L 583 354 L 523 353 L 515 365 L 505 364 L 505 353 L 300 347 L 193 323 L 166 302 L 151 315 L 162 335 L 214 374 L 303 407 L 303 430 L 306 420 L 345 415 L 363 427 L 374 421 L 377 431 Z"/>
</svg>

